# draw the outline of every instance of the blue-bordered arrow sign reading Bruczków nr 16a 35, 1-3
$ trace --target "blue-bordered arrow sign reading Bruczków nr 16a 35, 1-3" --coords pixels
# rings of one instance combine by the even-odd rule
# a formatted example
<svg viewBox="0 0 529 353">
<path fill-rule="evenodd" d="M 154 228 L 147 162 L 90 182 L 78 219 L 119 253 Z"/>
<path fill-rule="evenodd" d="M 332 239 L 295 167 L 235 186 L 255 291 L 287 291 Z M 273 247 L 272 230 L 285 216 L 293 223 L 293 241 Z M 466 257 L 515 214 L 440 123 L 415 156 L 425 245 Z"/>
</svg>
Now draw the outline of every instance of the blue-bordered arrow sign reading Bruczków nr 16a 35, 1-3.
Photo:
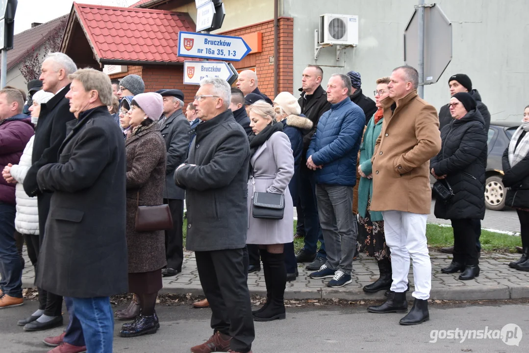
<svg viewBox="0 0 529 353">
<path fill-rule="evenodd" d="M 178 56 L 241 61 L 252 49 L 241 37 L 231 35 L 178 33 Z"/>
</svg>

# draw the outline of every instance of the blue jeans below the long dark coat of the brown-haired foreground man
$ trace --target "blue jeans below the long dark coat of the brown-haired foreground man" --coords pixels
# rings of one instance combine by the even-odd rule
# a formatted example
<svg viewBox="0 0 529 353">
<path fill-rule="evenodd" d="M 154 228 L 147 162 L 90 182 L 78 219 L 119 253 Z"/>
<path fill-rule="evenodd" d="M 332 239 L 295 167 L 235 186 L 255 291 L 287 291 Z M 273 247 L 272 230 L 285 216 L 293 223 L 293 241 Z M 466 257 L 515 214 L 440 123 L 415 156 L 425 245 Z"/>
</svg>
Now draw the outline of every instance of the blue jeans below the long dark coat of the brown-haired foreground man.
<svg viewBox="0 0 529 353">
<path fill-rule="evenodd" d="M 90 353 L 112 353 L 114 313 L 110 297 L 71 298 Z"/>
</svg>

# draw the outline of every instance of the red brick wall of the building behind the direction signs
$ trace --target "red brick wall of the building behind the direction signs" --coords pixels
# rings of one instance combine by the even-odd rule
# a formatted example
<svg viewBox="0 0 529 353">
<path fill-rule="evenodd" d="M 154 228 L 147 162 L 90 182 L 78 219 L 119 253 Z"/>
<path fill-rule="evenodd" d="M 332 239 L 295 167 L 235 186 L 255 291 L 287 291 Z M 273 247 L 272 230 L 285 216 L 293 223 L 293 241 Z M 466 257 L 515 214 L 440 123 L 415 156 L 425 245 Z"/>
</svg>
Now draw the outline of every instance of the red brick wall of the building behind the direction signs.
<svg viewBox="0 0 529 353">
<path fill-rule="evenodd" d="M 294 19 L 279 18 L 278 48 L 278 92 L 293 92 L 294 75 Z M 262 33 L 262 52 L 246 56 L 241 61 L 232 61 L 236 69 L 255 67 L 259 78 L 259 89 L 273 99 L 273 20 L 257 23 L 239 29 L 223 32 L 224 35 L 240 36 L 254 32 Z M 178 88 L 184 92 L 185 103 L 193 101 L 198 86 L 184 85 L 184 65 L 145 65 L 129 66 L 127 73 L 111 75 L 111 78 L 123 78 L 126 75 L 140 75 L 145 83 L 145 92 L 154 92 L 162 88 Z"/>
</svg>

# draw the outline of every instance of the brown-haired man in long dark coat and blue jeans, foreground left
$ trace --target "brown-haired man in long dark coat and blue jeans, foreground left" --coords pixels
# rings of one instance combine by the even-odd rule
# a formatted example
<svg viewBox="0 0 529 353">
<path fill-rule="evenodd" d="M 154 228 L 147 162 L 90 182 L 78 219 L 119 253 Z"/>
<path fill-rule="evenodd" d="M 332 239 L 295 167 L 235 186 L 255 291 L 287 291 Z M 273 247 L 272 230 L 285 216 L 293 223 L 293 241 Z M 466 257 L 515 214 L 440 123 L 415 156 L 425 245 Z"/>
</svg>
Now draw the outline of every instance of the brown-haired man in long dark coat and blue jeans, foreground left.
<svg viewBox="0 0 529 353">
<path fill-rule="evenodd" d="M 111 352 L 110 296 L 128 289 L 125 144 L 106 108 L 110 78 L 94 69 L 68 77 L 66 97 L 77 120 L 68 123 L 59 162 L 37 173 L 39 189 L 53 194 L 36 282 L 72 298 L 87 351 Z"/>
</svg>

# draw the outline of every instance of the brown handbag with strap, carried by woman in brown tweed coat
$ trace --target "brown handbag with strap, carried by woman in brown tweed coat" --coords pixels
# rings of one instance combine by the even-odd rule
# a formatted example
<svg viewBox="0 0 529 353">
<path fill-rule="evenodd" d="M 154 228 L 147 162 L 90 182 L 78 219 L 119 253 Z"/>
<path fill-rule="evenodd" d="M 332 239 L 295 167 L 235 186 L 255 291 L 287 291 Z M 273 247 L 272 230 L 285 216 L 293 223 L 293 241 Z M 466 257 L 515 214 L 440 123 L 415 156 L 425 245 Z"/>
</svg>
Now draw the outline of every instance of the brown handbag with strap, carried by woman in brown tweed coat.
<svg viewBox="0 0 529 353">
<path fill-rule="evenodd" d="M 140 191 L 136 198 L 136 232 L 154 232 L 172 229 L 172 217 L 169 205 L 140 206 Z"/>
</svg>

